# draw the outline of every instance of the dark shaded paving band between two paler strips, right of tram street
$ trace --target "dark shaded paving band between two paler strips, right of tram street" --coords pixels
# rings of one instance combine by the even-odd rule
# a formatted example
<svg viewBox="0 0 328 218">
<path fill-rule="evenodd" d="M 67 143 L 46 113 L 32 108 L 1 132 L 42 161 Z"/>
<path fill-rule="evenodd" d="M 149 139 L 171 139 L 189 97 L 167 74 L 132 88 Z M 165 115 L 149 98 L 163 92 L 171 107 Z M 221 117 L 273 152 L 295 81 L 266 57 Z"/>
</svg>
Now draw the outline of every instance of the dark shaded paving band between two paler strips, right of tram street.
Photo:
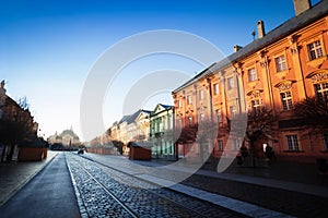
<svg viewBox="0 0 328 218">
<path fill-rule="evenodd" d="M 145 173 L 148 175 L 163 178 L 163 179 L 180 179 L 184 177 L 184 171 L 165 171 L 165 169 L 160 169 L 159 166 L 154 167 L 153 162 L 145 162 L 144 165 L 152 166 L 144 169 L 140 168 L 138 171 L 138 166 L 133 166 L 134 169 L 131 170 L 129 167 L 129 160 L 124 160 L 120 157 L 110 156 L 97 156 L 97 155 L 86 155 L 86 157 L 93 158 L 104 165 L 113 166 L 114 168 L 124 169 L 130 168 L 131 174 L 140 177 L 139 174 Z M 138 161 L 137 161 L 138 162 Z M 134 161 L 136 164 L 136 161 Z M 156 166 L 156 165 L 155 165 Z M 129 172 L 128 170 L 125 170 Z M 138 174 L 139 173 L 139 174 Z M 243 177 L 243 175 L 238 175 Z M 204 174 L 195 173 L 190 178 L 181 182 L 188 186 L 194 186 L 197 189 L 206 190 L 210 193 L 220 194 L 223 196 L 229 196 L 235 199 L 241 199 L 243 202 L 248 202 L 255 205 L 259 205 L 265 208 L 272 209 L 274 211 L 281 211 L 296 217 L 328 217 L 328 201 L 327 193 L 321 195 L 311 194 L 311 190 L 300 190 L 300 191 L 288 191 L 283 189 L 276 189 L 267 186 L 267 184 L 253 184 L 239 181 L 232 181 L 226 179 L 220 179 L 214 177 L 207 177 Z M 295 183 L 296 184 L 296 183 Z M 312 187 L 300 185 L 301 187 Z M 327 190 L 327 189 L 320 189 Z"/>
</svg>

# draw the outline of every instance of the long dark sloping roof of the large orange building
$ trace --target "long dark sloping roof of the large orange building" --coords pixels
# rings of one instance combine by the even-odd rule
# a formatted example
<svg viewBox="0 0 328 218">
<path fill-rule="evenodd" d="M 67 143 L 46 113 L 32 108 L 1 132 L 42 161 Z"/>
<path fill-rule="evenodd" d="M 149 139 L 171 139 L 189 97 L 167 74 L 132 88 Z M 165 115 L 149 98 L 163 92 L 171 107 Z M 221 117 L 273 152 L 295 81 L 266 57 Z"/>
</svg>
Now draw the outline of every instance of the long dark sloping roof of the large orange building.
<svg viewBox="0 0 328 218">
<path fill-rule="evenodd" d="M 271 45 L 272 43 L 292 34 L 296 31 L 309 25 L 311 23 L 328 15 L 328 1 L 321 0 L 316 5 L 314 5 L 312 9 L 304 11 L 303 13 L 298 14 L 297 16 L 294 16 L 286 21 L 285 23 L 281 24 L 277 28 L 269 32 L 265 37 L 256 39 L 238 50 L 237 52 L 232 53 L 227 58 L 213 63 L 199 74 L 197 74 L 195 77 L 173 90 L 172 93 L 176 93 L 181 90 L 183 88 L 194 84 L 196 81 L 198 81 L 200 77 L 204 77 L 206 75 L 215 72 L 222 68 L 227 66 L 230 63 L 238 61 L 239 59 L 245 58 L 246 56 L 249 56 L 250 53 L 254 53 L 266 46 Z"/>
</svg>

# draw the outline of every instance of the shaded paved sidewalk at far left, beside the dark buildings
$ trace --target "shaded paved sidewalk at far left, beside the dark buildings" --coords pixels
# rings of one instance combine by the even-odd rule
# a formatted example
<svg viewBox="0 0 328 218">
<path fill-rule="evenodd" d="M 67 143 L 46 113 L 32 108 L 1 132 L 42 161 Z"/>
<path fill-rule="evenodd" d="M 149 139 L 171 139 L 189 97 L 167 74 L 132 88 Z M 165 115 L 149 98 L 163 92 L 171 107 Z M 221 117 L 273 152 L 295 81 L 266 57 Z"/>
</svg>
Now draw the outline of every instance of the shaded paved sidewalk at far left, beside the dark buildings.
<svg viewBox="0 0 328 218">
<path fill-rule="evenodd" d="M 0 207 L 36 175 L 57 152 L 48 150 L 48 156 L 42 161 L 12 161 L 0 164 Z"/>
</svg>

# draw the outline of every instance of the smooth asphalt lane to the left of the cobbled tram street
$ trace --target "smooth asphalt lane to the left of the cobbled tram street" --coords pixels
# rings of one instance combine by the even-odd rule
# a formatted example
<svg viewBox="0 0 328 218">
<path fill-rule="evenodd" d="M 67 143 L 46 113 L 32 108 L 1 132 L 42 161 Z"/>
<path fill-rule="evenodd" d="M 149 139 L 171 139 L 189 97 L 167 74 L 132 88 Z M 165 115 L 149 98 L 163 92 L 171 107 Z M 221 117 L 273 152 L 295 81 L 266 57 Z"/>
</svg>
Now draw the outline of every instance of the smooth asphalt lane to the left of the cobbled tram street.
<svg viewBox="0 0 328 218">
<path fill-rule="evenodd" d="M 81 217 L 63 154 L 46 166 L 1 208 L 0 217 Z"/>
</svg>

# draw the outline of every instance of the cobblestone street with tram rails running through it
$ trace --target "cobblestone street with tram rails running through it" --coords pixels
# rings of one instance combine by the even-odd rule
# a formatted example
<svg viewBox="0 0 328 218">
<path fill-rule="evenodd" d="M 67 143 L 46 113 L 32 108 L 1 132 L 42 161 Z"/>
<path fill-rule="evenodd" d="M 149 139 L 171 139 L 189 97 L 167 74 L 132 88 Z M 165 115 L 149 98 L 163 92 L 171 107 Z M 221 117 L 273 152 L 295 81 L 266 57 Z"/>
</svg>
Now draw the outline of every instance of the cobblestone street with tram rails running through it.
<svg viewBox="0 0 328 218">
<path fill-rule="evenodd" d="M 70 153 L 67 161 L 81 197 L 82 217 L 243 217 Z"/>
</svg>

